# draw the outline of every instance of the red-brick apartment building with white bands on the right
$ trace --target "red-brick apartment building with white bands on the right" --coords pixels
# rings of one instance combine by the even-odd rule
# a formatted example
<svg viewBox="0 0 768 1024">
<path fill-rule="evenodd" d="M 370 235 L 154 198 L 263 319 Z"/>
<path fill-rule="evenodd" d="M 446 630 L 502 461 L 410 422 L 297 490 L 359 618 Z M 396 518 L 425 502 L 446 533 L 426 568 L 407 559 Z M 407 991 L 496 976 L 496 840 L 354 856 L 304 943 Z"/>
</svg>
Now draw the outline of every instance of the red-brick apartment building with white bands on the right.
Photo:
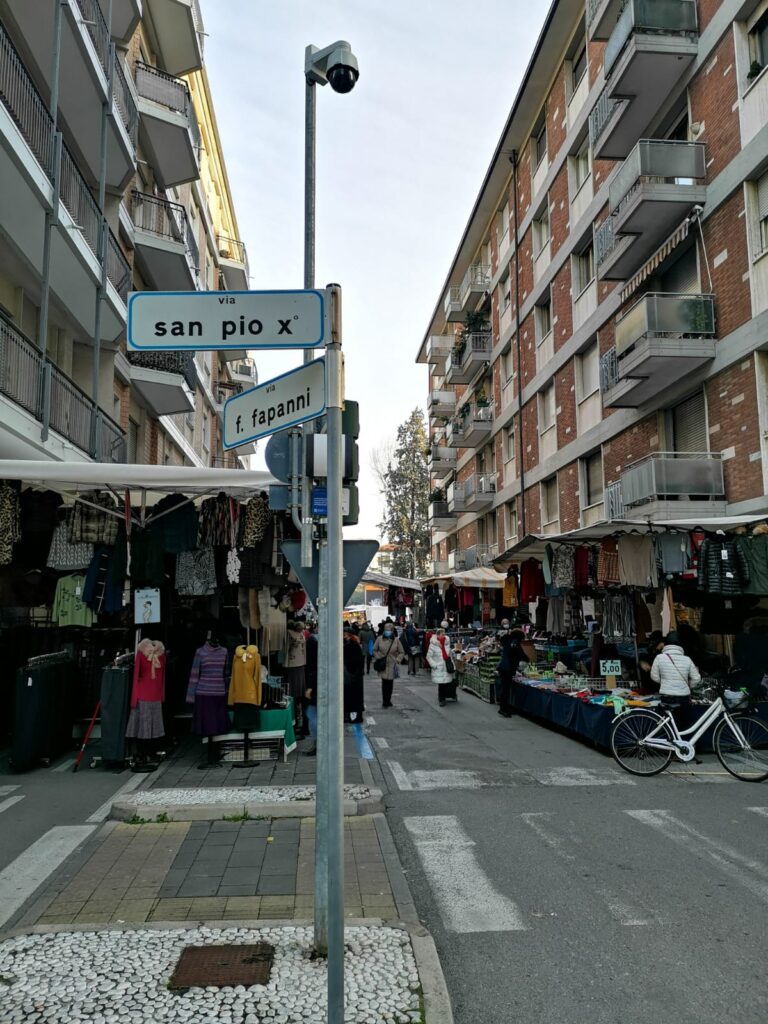
<svg viewBox="0 0 768 1024">
<path fill-rule="evenodd" d="M 417 361 L 433 571 L 768 512 L 768 0 L 555 0 Z"/>
</svg>

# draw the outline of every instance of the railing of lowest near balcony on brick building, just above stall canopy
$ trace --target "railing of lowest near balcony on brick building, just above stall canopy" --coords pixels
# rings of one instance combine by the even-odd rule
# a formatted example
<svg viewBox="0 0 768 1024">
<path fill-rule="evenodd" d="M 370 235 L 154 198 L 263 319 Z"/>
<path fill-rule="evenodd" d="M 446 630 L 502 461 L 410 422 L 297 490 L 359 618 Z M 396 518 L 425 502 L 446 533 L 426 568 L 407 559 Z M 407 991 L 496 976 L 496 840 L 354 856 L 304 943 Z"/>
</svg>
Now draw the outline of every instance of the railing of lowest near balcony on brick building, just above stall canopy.
<svg viewBox="0 0 768 1024">
<path fill-rule="evenodd" d="M 722 498 L 722 457 L 709 452 L 655 452 L 622 473 L 622 494 L 628 508 L 656 499 Z"/>
</svg>

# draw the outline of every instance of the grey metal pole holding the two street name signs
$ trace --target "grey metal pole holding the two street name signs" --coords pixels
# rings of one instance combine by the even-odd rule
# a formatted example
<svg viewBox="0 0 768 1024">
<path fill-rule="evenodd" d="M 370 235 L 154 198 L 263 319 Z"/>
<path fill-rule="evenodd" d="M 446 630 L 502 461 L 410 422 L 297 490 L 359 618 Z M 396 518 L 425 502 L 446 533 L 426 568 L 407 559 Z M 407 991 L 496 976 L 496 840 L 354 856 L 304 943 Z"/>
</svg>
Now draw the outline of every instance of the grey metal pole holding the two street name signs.
<svg viewBox="0 0 768 1024">
<path fill-rule="evenodd" d="M 344 370 L 341 289 L 327 288 L 331 338 L 326 347 L 328 390 L 328 1022 L 344 1024 L 344 723 L 343 723 L 343 437 Z M 315 840 L 316 841 L 316 840 Z"/>
</svg>

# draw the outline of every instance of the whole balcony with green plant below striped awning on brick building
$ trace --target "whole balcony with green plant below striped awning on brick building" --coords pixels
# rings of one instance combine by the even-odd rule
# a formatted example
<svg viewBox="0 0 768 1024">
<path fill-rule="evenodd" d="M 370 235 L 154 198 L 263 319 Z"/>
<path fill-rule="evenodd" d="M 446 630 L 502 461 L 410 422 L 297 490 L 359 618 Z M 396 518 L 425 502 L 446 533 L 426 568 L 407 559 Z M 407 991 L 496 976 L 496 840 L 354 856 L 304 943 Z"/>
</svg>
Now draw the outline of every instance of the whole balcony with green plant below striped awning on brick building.
<svg viewBox="0 0 768 1024">
<path fill-rule="evenodd" d="M 611 351 L 603 404 L 636 409 L 652 401 L 714 359 L 714 296 L 647 293 L 616 322 Z"/>
</svg>

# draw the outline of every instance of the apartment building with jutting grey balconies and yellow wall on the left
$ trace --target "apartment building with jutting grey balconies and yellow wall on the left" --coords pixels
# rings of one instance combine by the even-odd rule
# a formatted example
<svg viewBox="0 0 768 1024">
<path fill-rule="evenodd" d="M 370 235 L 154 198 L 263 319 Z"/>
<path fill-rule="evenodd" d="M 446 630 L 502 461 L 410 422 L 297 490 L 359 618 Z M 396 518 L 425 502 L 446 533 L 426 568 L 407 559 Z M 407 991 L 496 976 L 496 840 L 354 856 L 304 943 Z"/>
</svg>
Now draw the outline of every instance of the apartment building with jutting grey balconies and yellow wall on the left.
<svg viewBox="0 0 768 1024">
<path fill-rule="evenodd" d="M 125 343 L 130 291 L 248 288 L 204 38 L 198 0 L 0 0 L 0 458 L 240 465 L 248 353 Z"/>
</svg>

